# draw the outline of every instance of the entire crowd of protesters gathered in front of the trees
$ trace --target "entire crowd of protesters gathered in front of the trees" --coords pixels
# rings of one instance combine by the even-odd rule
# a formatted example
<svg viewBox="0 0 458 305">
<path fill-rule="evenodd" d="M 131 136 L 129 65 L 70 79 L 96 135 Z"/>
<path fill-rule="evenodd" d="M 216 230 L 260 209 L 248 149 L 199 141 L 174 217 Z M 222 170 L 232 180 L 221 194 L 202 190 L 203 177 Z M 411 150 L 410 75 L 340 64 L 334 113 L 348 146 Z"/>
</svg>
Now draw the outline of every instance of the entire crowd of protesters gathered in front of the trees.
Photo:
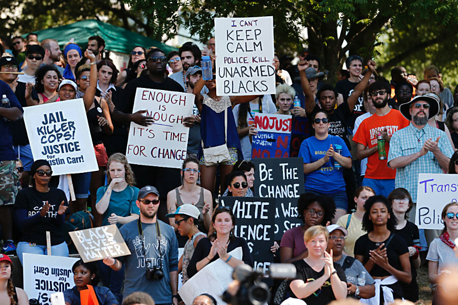
<svg viewBox="0 0 458 305">
<path fill-rule="evenodd" d="M 120 71 L 99 36 L 86 50 L 33 33 L 11 42 L 0 45 L 0 304 L 50 304 L 27 295 L 25 273 L 13 285 L 12 259 L 25 271 L 29 254 L 52 258 L 28 277 L 73 258 L 70 284 L 34 288 L 66 305 L 251 304 L 240 278 L 224 292 L 212 282 L 271 263 L 296 275 L 266 281 L 269 304 L 411 304 L 420 266 L 433 304 L 458 302 L 458 203 L 419 195 L 445 188 L 429 174 L 458 171 L 458 85 L 438 67 L 387 79 L 350 54 L 346 70 L 325 71 L 304 48 L 297 64 L 273 53 L 246 77 L 223 51 L 248 51 L 217 36 L 169 53 L 135 46 Z M 121 242 L 101 251 L 102 232 Z M 216 275 L 207 286 L 203 272 Z"/>
</svg>

